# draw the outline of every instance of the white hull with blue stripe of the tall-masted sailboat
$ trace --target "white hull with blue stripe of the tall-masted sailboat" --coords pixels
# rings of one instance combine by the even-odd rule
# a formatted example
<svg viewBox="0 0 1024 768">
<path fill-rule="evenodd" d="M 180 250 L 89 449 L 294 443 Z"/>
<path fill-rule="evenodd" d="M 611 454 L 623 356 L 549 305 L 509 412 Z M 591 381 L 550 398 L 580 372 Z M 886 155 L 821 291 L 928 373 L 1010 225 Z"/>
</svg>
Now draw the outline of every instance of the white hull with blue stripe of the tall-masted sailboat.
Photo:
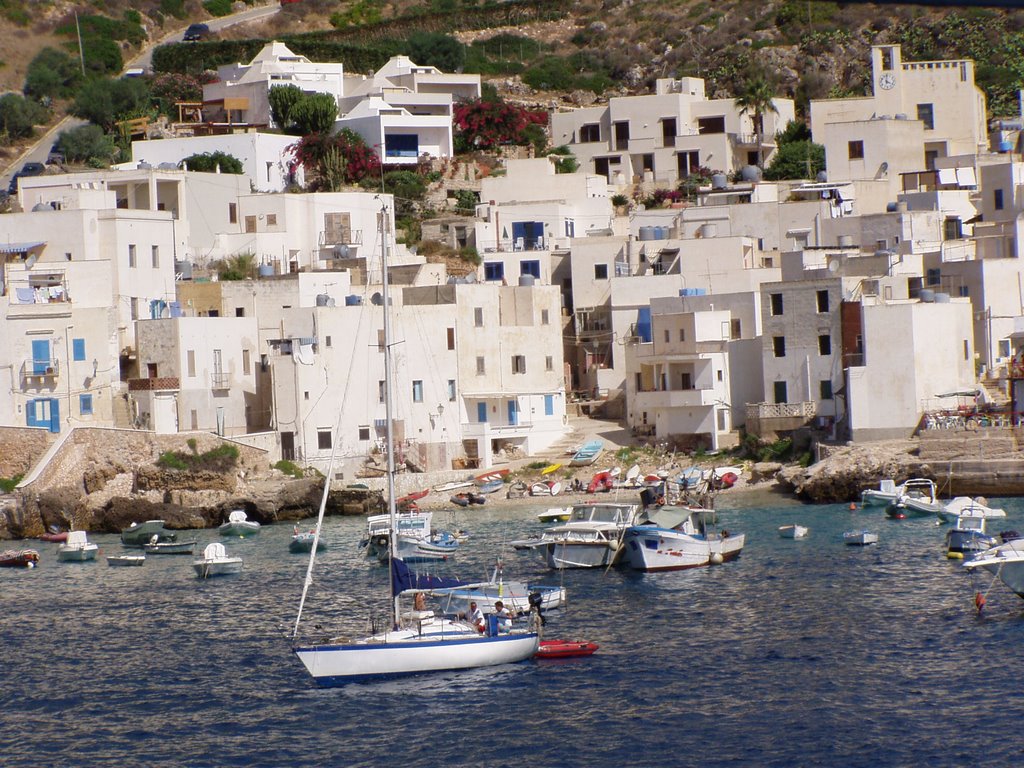
<svg viewBox="0 0 1024 768">
<path fill-rule="evenodd" d="M 537 652 L 540 642 L 536 632 L 488 637 L 472 629 L 446 634 L 398 630 L 354 644 L 302 646 L 295 649 L 295 654 L 317 685 L 329 687 L 523 662 Z"/>
</svg>

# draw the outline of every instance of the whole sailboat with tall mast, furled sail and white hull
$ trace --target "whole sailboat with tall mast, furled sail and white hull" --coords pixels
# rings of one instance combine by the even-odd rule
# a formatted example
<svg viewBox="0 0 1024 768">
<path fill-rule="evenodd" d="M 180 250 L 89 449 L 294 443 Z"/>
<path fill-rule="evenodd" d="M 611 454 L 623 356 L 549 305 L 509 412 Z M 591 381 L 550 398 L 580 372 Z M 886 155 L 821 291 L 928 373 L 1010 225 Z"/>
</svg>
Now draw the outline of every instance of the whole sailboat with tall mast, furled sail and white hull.
<svg viewBox="0 0 1024 768">
<path fill-rule="evenodd" d="M 389 318 L 390 299 L 388 296 L 386 222 L 387 206 L 382 201 L 381 211 L 381 285 L 384 310 L 384 392 L 387 439 L 387 492 L 388 512 L 391 516 L 389 531 L 390 587 L 391 587 L 391 629 L 358 640 L 327 640 L 312 645 L 298 644 L 293 647 L 306 671 L 317 685 L 336 686 L 359 680 L 389 678 L 400 675 L 415 675 L 443 670 L 464 670 L 492 667 L 530 658 L 540 647 L 539 622 L 530 616 L 530 626 L 523 630 L 508 631 L 497 615 L 485 617 L 484 630 L 449 616 L 435 615 L 433 611 L 414 605 L 412 610 L 402 610 L 401 595 L 407 585 L 397 578 L 400 560 L 395 556 L 397 548 L 397 507 L 395 504 L 395 458 L 393 442 L 392 392 L 393 362 L 391 324 Z M 335 445 L 338 441 L 333 441 Z M 332 464 L 334 453 L 332 450 Z M 328 471 L 327 477 L 332 472 Z M 321 500 L 319 515 L 314 528 L 318 539 L 327 507 L 328 482 L 325 482 Z M 312 583 L 312 567 L 316 554 L 316 539 L 313 541 L 306 568 L 299 611 L 292 633 L 293 643 L 299 633 L 302 608 L 306 594 Z"/>
</svg>

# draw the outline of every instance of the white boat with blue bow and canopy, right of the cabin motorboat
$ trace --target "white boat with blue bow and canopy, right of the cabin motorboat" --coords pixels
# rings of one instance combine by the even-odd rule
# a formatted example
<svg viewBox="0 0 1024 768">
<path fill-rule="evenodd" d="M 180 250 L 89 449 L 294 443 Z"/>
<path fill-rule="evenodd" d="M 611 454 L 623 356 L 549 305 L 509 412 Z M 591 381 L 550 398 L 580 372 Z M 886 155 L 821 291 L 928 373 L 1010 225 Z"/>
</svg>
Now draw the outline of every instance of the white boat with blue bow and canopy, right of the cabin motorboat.
<svg viewBox="0 0 1024 768">
<path fill-rule="evenodd" d="M 682 570 L 734 560 L 743 534 L 714 530 L 715 512 L 695 507 L 651 507 L 626 529 L 624 559 L 637 570 Z"/>
</svg>

